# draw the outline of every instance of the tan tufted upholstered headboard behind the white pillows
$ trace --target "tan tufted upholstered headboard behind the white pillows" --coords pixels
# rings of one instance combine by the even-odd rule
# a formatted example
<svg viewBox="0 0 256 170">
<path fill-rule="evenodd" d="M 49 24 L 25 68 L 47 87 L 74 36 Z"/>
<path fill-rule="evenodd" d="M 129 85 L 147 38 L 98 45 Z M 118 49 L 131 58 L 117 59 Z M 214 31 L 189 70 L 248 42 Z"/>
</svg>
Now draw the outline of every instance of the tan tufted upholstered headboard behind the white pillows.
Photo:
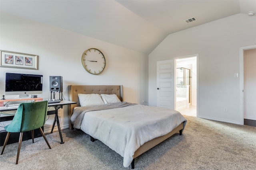
<svg viewBox="0 0 256 170">
<path fill-rule="evenodd" d="M 78 100 L 78 94 L 116 94 L 116 96 L 123 101 L 123 86 L 122 85 L 70 85 L 68 86 L 68 98 L 72 102 L 77 102 L 77 104 L 68 105 L 68 118 L 70 119 L 73 114 L 74 107 L 80 106 Z M 69 123 L 70 124 L 70 123 Z M 72 125 L 69 125 L 72 129 Z"/>
</svg>

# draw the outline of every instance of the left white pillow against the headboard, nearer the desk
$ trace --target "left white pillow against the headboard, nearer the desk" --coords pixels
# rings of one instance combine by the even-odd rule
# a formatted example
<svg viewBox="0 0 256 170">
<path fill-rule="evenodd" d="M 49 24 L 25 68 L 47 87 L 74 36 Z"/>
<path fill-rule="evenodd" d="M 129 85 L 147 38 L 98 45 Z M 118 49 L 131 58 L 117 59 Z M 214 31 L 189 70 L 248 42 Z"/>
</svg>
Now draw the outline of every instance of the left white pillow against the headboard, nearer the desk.
<svg viewBox="0 0 256 170">
<path fill-rule="evenodd" d="M 78 94 L 80 106 L 104 104 L 99 94 Z"/>
</svg>

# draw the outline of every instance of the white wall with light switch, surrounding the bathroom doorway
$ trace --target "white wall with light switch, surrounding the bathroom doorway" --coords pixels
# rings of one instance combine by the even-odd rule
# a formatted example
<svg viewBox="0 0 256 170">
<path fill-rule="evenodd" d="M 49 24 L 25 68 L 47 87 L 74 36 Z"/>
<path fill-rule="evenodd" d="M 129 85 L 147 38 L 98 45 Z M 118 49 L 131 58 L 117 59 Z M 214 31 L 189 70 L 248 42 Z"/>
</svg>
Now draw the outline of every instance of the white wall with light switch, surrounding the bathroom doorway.
<svg viewBox="0 0 256 170">
<path fill-rule="evenodd" d="M 148 98 L 156 106 L 156 62 L 199 54 L 198 116 L 241 123 L 240 47 L 256 44 L 256 16 L 236 14 L 168 35 L 149 55 Z M 224 107 L 228 112 L 224 112 Z"/>
</svg>

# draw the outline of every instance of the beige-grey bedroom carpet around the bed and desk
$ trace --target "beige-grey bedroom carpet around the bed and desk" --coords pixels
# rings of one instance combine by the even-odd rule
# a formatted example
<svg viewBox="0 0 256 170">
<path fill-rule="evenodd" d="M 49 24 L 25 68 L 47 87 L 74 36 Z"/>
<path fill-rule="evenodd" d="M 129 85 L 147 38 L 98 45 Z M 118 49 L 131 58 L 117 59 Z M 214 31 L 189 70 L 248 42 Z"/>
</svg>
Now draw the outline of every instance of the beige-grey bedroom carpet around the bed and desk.
<svg viewBox="0 0 256 170">
<path fill-rule="evenodd" d="M 185 130 L 135 159 L 135 170 L 255 170 L 256 128 L 188 119 Z M 0 170 L 122 170 L 122 157 L 100 141 L 94 143 L 82 131 L 62 130 L 46 135 L 52 149 L 42 137 L 23 141 L 19 164 L 18 143 L 7 145 L 0 155 Z M 0 147 L 2 150 L 2 147 Z"/>
</svg>

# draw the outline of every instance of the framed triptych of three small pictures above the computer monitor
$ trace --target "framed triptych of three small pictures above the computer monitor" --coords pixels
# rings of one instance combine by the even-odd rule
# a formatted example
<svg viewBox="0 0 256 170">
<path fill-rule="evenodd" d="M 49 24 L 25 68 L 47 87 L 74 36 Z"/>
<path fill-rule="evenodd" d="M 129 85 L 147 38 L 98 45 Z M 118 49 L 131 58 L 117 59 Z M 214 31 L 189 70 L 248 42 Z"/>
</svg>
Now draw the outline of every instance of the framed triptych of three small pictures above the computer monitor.
<svg viewBox="0 0 256 170">
<path fill-rule="evenodd" d="M 38 55 L 2 50 L 0 52 L 1 67 L 26 68 L 38 70 Z"/>
</svg>

